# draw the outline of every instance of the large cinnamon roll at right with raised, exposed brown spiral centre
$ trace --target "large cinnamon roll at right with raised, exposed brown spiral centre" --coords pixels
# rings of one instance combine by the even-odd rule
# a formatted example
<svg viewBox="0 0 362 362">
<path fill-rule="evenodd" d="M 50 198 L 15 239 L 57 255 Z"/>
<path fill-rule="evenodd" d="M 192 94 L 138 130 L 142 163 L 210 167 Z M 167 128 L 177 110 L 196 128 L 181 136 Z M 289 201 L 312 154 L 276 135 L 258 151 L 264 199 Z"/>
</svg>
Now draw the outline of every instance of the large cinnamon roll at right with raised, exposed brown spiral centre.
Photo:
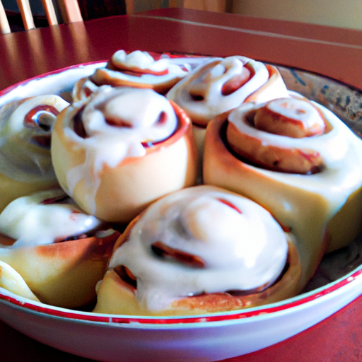
<svg viewBox="0 0 362 362">
<path fill-rule="evenodd" d="M 362 141 L 332 112 L 303 98 L 249 103 L 213 119 L 204 182 L 250 197 L 293 231 L 300 288 L 326 251 L 361 231 Z"/>
</svg>

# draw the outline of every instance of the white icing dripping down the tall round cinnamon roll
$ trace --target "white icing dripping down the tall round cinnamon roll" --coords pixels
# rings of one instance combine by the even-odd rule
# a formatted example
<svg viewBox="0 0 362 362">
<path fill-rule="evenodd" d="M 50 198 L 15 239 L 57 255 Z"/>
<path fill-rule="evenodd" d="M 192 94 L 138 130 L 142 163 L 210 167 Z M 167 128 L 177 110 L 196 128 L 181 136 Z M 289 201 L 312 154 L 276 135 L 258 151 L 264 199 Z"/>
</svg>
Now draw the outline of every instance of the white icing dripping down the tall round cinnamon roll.
<svg viewBox="0 0 362 362">
<path fill-rule="evenodd" d="M 170 102 L 151 89 L 100 87 L 83 109 L 86 138 L 74 132 L 73 117 L 64 118 L 64 134 L 85 149 L 86 160 L 68 171 L 66 192 L 72 195 L 77 183 L 84 179 L 93 190 L 88 194 L 92 214 L 103 166 L 115 168 L 125 158 L 144 156 L 143 143 L 167 139 L 177 127 Z M 119 122 L 119 126 L 107 122 Z"/>
</svg>

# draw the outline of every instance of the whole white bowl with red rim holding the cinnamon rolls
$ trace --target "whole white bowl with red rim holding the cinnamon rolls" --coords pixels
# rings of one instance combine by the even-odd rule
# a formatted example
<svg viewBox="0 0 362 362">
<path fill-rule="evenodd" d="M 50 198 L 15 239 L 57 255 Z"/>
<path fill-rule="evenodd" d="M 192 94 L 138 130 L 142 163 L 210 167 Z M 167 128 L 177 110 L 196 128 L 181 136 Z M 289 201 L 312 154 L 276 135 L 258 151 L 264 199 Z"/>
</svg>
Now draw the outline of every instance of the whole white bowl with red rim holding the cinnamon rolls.
<svg viewBox="0 0 362 362">
<path fill-rule="evenodd" d="M 78 78 L 103 64 L 71 66 L 18 83 L 0 91 L 0 106 L 31 95 L 69 95 Z M 329 107 L 362 134 L 357 122 L 361 91 L 278 67 L 290 90 Z M 358 240 L 327 255 L 304 293 L 258 308 L 192 317 L 102 315 L 33 302 L 0 288 L 0 319 L 37 341 L 98 361 L 218 361 L 276 344 L 357 298 L 362 293 L 361 245 Z"/>
</svg>

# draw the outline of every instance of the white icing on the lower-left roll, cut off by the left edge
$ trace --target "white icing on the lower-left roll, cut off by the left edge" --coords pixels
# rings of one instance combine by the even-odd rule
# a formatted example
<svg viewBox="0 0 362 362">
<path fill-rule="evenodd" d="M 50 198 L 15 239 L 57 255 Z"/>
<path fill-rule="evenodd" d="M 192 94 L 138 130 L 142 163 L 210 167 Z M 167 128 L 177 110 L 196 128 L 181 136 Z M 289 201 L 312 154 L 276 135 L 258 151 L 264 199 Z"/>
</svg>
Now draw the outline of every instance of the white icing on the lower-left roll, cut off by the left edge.
<svg viewBox="0 0 362 362">
<path fill-rule="evenodd" d="M 43 203 L 64 197 L 62 203 Z M 11 247 L 52 244 L 57 239 L 86 233 L 100 226 L 84 214 L 62 189 L 37 192 L 14 200 L 0 214 L 0 233 L 16 240 Z"/>
</svg>

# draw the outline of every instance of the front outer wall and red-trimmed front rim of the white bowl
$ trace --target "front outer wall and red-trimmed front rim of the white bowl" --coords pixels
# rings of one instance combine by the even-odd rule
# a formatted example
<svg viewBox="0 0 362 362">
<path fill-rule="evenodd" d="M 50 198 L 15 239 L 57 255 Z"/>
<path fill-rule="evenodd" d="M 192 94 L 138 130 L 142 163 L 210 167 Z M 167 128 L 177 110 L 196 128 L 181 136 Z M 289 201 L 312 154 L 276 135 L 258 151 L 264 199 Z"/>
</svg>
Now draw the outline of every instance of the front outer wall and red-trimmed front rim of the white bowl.
<svg viewBox="0 0 362 362">
<path fill-rule="evenodd" d="M 262 308 L 194 317 L 129 317 L 55 308 L 0 291 L 0 318 L 28 337 L 98 361 L 218 361 L 315 325 L 362 291 L 362 268 Z"/>
</svg>

